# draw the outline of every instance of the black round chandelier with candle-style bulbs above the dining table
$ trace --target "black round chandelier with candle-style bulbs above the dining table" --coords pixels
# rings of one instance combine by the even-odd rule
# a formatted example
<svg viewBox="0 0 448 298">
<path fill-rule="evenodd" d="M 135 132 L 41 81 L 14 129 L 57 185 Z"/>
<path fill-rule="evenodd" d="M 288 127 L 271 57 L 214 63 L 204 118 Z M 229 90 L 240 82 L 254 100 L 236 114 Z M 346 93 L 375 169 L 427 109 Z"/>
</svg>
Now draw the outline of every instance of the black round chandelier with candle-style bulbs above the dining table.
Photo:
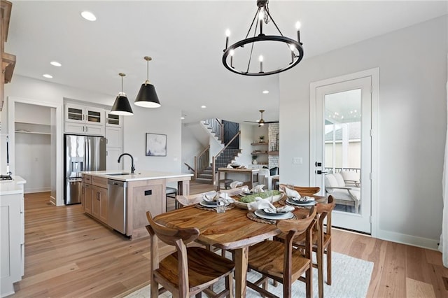
<svg viewBox="0 0 448 298">
<path fill-rule="evenodd" d="M 286 71 L 297 65 L 302 60 L 303 48 L 302 43 L 300 42 L 300 23 L 297 22 L 296 24 L 297 41 L 283 36 L 279 27 L 269 13 L 268 5 L 269 0 L 257 0 L 258 9 L 255 13 L 255 17 L 253 17 L 251 27 L 249 27 L 247 31 L 246 38 L 228 46 L 230 31 L 226 31 L 225 49 L 223 54 L 223 64 L 226 69 L 244 76 L 268 76 L 274 73 Z M 257 17 L 260 22 L 255 22 L 255 20 L 257 20 Z M 268 24 L 271 20 L 276 30 L 279 31 L 280 35 L 265 35 L 263 33 L 263 22 L 265 24 Z M 248 37 L 249 34 L 251 34 L 252 28 L 254 28 L 253 37 Z M 259 32 L 258 35 L 257 31 Z M 281 43 L 284 43 L 284 45 L 281 45 L 280 48 L 275 48 L 276 52 L 275 54 L 272 54 L 272 52 L 274 51 L 272 42 L 280 45 Z M 249 43 L 251 45 L 246 46 Z M 255 45 L 255 43 L 257 43 L 257 45 Z M 262 44 L 264 44 L 264 46 L 262 46 Z M 237 52 L 240 52 L 240 54 L 237 54 Z M 268 52 L 269 54 L 271 54 L 271 56 L 269 56 L 272 57 L 271 61 L 267 61 L 265 59 Z M 256 63 L 255 65 L 254 63 L 251 65 L 251 62 L 253 60 L 252 58 L 256 55 L 258 55 L 258 61 L 260 62 L 259 67 Z M 283 59 L 280 58 L 281 61 L 277 61 L 279 60 L 280 55 L 283 55 Z M 275 62 L 279 62 L 279 64 L 283 66 L 272 66 L 274 60 Z M 265 62 L 266 70 L 263 69 L 263 62 Z"/>
</svg>

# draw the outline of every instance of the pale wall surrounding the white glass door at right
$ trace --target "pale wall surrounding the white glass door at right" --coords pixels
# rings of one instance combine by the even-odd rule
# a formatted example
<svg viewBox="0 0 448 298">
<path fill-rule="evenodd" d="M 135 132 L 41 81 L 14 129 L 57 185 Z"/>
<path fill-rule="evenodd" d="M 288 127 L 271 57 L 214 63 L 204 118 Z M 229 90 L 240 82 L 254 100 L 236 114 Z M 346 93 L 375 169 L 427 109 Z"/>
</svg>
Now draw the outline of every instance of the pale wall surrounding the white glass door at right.
<svg viewBox="0 0 448 298">
<path fill-rule="evenodd" d="M 309 185 L 309 84 L 379 67 L 377 236 L 436 248 L 447 50 L 444 16 L 305 59 L 281 73 L 281 182 Z M 292 164 L 293 157 L 303 157 L 303 164 Z"/>
</svg>

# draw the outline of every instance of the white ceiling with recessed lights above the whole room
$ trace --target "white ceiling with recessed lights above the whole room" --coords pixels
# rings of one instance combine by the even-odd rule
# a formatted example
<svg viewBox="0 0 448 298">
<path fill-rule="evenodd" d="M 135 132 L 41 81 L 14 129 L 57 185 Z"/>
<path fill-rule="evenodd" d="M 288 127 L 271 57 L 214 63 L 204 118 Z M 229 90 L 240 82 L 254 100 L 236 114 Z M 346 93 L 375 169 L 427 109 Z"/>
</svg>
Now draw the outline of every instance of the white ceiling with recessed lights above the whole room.
<svg viewBox="0 0 448 298">
<path fill-rule="evenodd" d="M 162 106 L 181 108 L 183 122 L 255 121 L 260 109 L 265 121 L 279 120 L 279 75 L 241 76 L 221 62 L 225 30 L 230 44 L 243 38 L 255 0 L 12 1 L 5 50 L 17 56 L 16 75 L 110 94 L 112 105 L 118 73 L 126 73 L 123 91 L 134 101 L 146 80 L 144 56 L 151 56 L 149 80 Z M 80 17 L 83 10 L 97 21 Z M 270 0 L 269 12 L 290 38 L 302 23 L 305 60 L 447 14 L 447 1 Z"/>
</svg>

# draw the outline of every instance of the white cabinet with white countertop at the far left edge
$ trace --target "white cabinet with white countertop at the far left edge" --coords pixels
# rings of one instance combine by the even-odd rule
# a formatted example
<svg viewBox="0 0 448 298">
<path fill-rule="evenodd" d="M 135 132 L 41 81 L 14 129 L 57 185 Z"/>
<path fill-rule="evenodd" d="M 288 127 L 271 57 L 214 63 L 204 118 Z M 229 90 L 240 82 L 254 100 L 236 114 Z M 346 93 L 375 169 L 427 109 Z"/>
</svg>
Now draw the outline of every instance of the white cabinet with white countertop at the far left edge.
<svg viewBox="0 0 448 298">
<path fill-rule="evenodd" d="M 20 176 L 0 181 L 0 297 L 14 294 L 25 274 L 25 201 Z"/>
</svg>

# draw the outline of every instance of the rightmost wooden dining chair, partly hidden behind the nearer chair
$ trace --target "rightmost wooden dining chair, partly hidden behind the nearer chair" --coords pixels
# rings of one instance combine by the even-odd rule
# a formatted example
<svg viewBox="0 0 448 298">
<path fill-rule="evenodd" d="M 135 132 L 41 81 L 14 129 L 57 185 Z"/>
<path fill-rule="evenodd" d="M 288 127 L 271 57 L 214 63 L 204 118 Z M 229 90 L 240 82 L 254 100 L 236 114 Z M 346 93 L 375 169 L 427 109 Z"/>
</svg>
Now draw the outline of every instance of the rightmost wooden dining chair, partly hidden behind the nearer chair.
<svg viewBox="0 0 448 298">
<path fill-rule="evenodd" d="M 327 255 L 327 284 L 331 285 L 331 213 L 335 208 L 334 198 L 330 195 L 327 204 L 316 204 L 316 225 L 312 235 L 312 250 L 316 253 L 316 263 L 313 267 L 318 272 L 318 297 L 323 297 L 323 255 Z M 326 229 L 324 227 L 326 225 Z M 286 241 L 286 234 L 275 237 L 276 241 Z M 293 246 L 303 250 L 307 246 L 305 235 L 297 235 L 293 239 Z"/>
</svg>

